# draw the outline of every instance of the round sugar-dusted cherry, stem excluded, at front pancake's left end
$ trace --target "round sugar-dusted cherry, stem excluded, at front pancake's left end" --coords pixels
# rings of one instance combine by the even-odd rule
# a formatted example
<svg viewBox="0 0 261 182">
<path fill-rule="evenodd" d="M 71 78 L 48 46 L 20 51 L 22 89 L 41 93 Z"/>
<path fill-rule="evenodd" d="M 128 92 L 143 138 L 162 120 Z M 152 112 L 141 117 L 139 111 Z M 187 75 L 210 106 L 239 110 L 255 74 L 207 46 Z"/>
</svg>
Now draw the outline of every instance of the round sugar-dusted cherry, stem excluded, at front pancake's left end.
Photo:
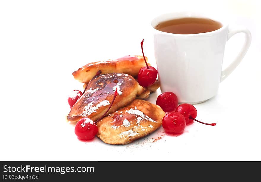
<svg viewBox="0 0 261 182">
<path fill-rule="evenodd" d="M 97 134 L 98 127 L 88 117 L 80 119 L 75 125 L 74 133 L 82 140 L 90 140 Z"/>
</svg>

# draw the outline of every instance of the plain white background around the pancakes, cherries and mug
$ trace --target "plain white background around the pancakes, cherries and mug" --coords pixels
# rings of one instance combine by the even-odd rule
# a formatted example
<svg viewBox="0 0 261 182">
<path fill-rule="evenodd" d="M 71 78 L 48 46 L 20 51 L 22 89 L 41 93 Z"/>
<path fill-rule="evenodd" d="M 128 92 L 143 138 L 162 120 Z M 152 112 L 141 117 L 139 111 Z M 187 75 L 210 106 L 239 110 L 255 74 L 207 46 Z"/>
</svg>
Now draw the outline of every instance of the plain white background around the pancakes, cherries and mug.
<svg viewBox="0 0 261 182">
<path fill-rule="evenodd" d="M 260 161 L 260 7 L 254 0 L 1 1 L 0 160 Z M 162 129 L 125 146 L 80 142 L 66 122 L 67 96 L 82 90 L 71 73 L 88 62 L 140 55 L 142 39 L 153 65 L 150 21 L 183 10 L 219 15 L 252 33 L 248 53 L 218 95 L 195 105 L 198 119 L 217 125 L 194 123 L 154 143 L 148 139 Z M 243 41 L 240 34 L 229 40 L 223 68 Z"/>
</svg>

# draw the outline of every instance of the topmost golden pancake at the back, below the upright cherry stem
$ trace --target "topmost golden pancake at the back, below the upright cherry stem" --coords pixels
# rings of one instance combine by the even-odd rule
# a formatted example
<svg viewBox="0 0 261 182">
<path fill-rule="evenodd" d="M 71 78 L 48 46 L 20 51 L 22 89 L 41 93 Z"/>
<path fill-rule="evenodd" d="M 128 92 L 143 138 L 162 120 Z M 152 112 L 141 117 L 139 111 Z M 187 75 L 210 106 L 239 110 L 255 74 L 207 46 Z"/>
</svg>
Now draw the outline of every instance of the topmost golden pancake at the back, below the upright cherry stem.
<svg viewBox="0 0 261 182">
<path fill-rule="evenodd" d="M 101 70 L 101 74 L 126 73 L 135 77 L 143 66 L 146 66 L 143 56 L 128 55 L 114 60 L 88 63 L 77 71 L 74 71 L 72 75 L 74 76 L 74 79 L 79 80 L 82 83 L 89 83 L 98 70 Z"/>
</svg>

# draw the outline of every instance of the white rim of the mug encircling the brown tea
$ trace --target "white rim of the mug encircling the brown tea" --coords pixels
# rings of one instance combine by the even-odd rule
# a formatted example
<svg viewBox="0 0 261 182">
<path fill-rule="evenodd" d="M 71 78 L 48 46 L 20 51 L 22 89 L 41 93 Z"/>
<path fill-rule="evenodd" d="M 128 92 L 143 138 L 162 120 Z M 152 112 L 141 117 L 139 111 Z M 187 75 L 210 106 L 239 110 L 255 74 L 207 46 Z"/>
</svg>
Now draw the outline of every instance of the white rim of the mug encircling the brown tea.
<svg viewBox="0 0 261 182">
<path fill-rule="evenodd" d="M 168 21 L 171 19 L 186 18 L 186 17 L 209 18 L 211 20 L 219 21 L 222 24 L 222 27 L 217 30 L 211 31 L 211 32 L 204 32 L 204 33 L 198 33 L 198 34 L 174 34 L 174 33 L 169 33 L 169 32 L 162 32 L 160 30 L 155 29 L 155 26 L 162 21 Z M 161 19 L 161 20 L 159 21 L 159 19 Z M 221 32 L 228 26 L 228 23 L 226 23 L 225 21 L 220 21 L 220 20 L 218 20 L 218 18 L 215 18 L 215 17 L 212 18 L 212 16 L 205 15 L 203 13 L 196 13 L 196 12 L 190 12 L 190 11 L 170 12 L 170 13 L 161 14 L 161 15 L 158 15 L 157 17 L 155 17 L 151 21 L 150 24 L 157 33 L 166 34 L 166 35 L 175 35 L 175 36 L 181 36 L 181 37 L 192 37 L 192 36 L 199 36 L 199 35 L 209 36 L 211 34 Z"/>
</svg>

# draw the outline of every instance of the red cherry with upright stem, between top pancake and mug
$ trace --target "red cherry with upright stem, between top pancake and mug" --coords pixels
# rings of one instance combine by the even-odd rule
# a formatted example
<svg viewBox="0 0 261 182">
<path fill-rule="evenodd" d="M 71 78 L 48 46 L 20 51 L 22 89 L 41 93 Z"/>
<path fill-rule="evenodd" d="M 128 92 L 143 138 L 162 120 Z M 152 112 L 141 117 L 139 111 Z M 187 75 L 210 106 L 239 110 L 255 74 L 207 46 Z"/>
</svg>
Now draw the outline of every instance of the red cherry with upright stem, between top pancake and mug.
<svg viewBox="0 0 261 182">
<path fill-rule="evenodd" d="M 149 87 L 156 81 L 158 72 L 154 67 L 149 66 L 145 59 L 144 52 L 143 52 L 143 41 L 144 40 L 141 41 L 141 51 L 142 51 L 142 55 L 143 55 L 144 61 L 146 63 L 146 66 L 141 67 L 141 69 L 139 70 L 138 82 L 143 87 Z"/>
</svg>

